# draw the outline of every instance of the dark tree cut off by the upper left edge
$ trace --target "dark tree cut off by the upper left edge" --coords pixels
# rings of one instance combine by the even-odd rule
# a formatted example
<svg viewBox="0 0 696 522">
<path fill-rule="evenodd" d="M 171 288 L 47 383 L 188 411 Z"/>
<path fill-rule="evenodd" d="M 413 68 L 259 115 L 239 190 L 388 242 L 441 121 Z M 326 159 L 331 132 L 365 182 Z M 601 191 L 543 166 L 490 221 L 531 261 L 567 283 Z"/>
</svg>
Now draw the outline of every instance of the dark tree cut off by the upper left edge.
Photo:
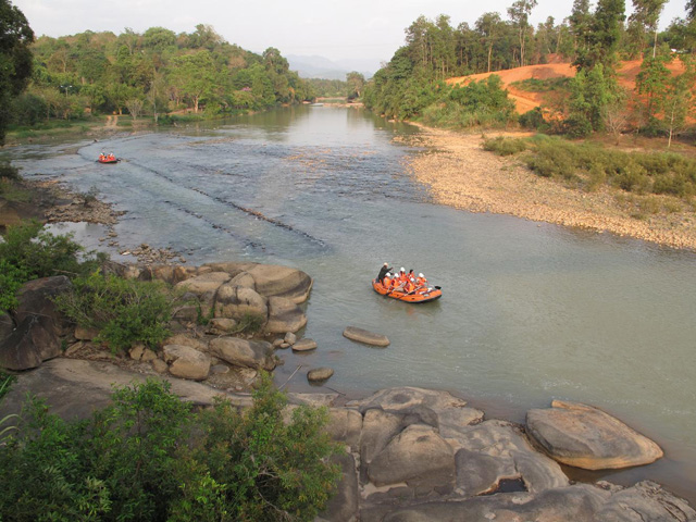
<svg viewBox="0 0 696 522">
<path fill-rule="evenodd" d="M 0 0 L 0 146 L 14 99 L 24 90 L 32 76 L 34 32 L 24 13 L 9 0 Z"/>
</svg>

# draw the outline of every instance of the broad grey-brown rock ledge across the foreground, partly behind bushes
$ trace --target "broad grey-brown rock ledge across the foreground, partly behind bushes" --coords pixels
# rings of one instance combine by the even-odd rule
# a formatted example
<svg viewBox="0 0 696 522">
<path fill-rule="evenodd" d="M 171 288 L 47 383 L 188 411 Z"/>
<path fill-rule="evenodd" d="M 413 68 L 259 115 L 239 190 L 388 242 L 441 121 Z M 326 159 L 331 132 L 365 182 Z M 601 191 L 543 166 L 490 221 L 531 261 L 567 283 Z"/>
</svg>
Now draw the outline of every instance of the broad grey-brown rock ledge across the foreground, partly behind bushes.
<svg viewBox="0 0 696 522">
<path fill-rule="evenodd" d="M 0 418 L 17 412 L 27 391 L 46 397 L 51 411 L 64 418 L 86 417 L 109 402 L 112 383 L 145 378 L 107 362 L 53 359 L 20 375 L 0 405 Z M 202 407 L 217 395 L 240 407 L 251 403 L 246 394 L 159 378 L 166 378 L 183 400 Z M 651 482 L 625 488 L 608 482 L 570 484 L 521 426 L 484 420 L 483 412 L 447 391 L 390 388 L 343 408 L 333 407 L 337 397 L 289 394 L 287 407 L 289 413 L 297 403 L 327 406 L 326 432 L 347 449 L 335 459 L 343 472 L 338 493 L 318 521 L 696 520 L 685 500 Z M 497 493 L 506 481 L 517 490 Z"/>
</svg>

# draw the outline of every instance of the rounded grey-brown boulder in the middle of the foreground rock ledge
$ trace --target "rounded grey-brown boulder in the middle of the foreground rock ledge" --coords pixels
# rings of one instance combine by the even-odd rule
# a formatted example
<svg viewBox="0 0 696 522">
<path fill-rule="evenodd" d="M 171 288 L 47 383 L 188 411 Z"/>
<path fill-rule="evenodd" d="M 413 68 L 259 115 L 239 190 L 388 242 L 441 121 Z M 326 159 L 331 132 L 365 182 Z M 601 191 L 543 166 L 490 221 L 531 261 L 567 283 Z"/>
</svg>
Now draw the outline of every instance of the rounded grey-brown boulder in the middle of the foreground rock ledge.
<svg viewBox="0 0 696 522">
<path fill-rule="evenodd" d="M 406 482 L 421 490 L 453 486 L 455 455 L 437 431 L 411 424 L 373 459 L 368 476 L 376 486 Z"/>
</svg>

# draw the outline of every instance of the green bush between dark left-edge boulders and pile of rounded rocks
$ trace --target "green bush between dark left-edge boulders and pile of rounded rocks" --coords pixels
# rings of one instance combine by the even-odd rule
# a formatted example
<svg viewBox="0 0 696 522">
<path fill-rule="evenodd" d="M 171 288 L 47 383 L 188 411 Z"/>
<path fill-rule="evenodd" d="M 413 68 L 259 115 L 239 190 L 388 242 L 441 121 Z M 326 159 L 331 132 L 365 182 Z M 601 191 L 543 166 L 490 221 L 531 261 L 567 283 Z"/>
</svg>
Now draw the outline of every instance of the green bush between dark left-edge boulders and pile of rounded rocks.
<svg viewBox="0 0 696 522">
<path fill-rule="evenodd" d="M 57 304 L 77 324 L 99 331 L 96 340 L 112 351 L 135 343 L 156 348 L 170 334 L 176 295 L 159 281 L 124 279 L 94 273 L 73 282 Z"/>
</svg>

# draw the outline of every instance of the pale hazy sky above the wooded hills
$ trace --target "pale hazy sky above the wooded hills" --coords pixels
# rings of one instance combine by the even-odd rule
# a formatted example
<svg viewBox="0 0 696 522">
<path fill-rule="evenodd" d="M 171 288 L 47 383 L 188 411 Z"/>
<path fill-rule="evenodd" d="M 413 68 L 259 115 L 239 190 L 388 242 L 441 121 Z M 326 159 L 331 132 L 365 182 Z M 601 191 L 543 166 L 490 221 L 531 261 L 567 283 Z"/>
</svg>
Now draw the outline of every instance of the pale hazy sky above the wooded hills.
<svg viewBox="0 0 696 522">
<path fill-rule="evenodd" d="M 29 21 L 37 36 L 66 36 L 125 27 L 144 33 L 166 27 L 192 33 L 196 25 L 212 25 L 228 42 L 262 52 L 275 47 L 284 55 L 321 55 L 332 60 L 359 58 L 388 61 L 403 45 L 403 29 L 420 15 L 450 16 L 450 25 L 473 25 L 484 12 L 507 18 L 513 0 L 11 0 Z M 532 12 L 535 25 L 570 15 L 573 0 L 538 0 Z M 660 27 L 683 17 L 686 0 L 669 0 Z M 630 9 L 631 0 L 626 0 Z"/>
</svg>

